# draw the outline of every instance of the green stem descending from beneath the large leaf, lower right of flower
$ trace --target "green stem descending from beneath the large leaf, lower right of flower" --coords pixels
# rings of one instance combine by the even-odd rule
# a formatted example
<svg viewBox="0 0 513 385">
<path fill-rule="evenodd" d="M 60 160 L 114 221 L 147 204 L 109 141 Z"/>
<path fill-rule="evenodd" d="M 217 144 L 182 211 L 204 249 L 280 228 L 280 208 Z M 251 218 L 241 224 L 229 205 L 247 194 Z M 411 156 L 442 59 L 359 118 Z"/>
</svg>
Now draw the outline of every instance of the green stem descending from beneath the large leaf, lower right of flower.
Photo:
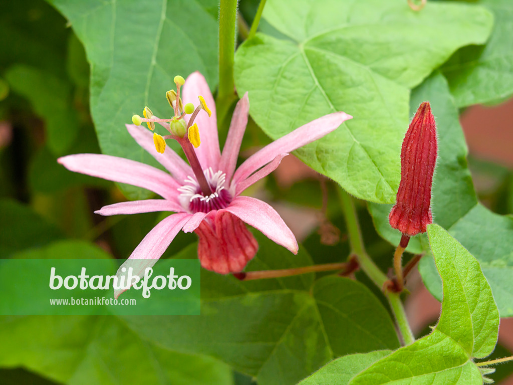
<svg viewBox="0 0 513 385">
<path fill-rule="evenodd" d="M 383 285 L 388 280 L 387 276 L 379 269 L 378 266 L 372 261 L 367 252 L 365 251 L 365 245 L 363 243 L 362 232 L 360 230 L 360 224 L 358 222 L 358 214 L 354 207 L 353 199 L 347 192 L 342 188 L 339 188 L 339 196 L 342 204 L 342 210 L 347 225 L 347 232 L 349 243 L 351 245 L 352 253 L 357 257 L 360 267 L 365 274 L 376 284 L 380 289 L 383 289 Z M 390 309 L 394 317 L 396 318 L 397 326 L 401 334 L 403 343 L 408 345 L 415 341 L 413 333 L 411 333 L 408 320 L 406 318 L 406 312 L 404 310 L 403 303 L 399 297 L 399 294 L 388 293 L 388 302 L 390 303 Z"/>
</svg>

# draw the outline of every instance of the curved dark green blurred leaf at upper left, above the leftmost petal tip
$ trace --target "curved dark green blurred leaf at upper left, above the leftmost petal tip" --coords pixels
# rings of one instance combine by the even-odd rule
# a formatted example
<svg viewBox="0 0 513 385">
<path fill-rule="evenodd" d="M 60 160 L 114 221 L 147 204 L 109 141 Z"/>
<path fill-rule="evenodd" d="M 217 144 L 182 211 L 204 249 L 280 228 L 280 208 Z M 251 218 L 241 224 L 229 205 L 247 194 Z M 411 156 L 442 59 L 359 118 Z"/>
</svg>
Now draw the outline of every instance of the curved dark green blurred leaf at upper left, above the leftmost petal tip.
<svg viewBox="0 0 513 385">
<path fill-rule="evenodd" d="M 79 122 L 70 103 L 71 87 L 61 78 L 35 67 L 15 65 L 5 74 L 13 92 L 32 104 L 45 121 L 48 147 L 62 155 L 75 141 Z"/>
</svg>

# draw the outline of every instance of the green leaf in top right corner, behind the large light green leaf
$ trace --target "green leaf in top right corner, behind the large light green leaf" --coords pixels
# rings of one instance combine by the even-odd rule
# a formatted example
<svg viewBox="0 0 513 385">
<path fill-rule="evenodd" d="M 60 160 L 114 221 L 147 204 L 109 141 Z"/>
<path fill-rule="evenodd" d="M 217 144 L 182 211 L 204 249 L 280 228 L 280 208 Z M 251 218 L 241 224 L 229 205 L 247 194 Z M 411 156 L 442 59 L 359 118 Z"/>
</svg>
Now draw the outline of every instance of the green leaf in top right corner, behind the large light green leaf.
<svg viewBox="0 0 513 385">
<path fill-rule="evenodd" d="M 481 0 L 494 13 L 494 29 L 485 46 L 457 51 L 442 67 L 458 107 L 500 103 L 513 94 L 513 3 Z"/>
</svg>

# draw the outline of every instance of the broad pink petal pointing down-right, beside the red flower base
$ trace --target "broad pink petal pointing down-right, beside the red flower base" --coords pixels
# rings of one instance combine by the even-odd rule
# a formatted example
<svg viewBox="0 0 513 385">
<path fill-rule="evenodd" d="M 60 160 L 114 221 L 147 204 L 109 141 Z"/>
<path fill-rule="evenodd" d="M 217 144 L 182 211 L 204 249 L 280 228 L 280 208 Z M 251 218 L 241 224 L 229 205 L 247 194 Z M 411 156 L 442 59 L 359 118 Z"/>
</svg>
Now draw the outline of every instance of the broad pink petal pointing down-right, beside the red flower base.
<svg viewBox="0 0 513 385">
<path fill-rule="evenodd" d="M 298 241 L 280 215 L 267 203 L 251 197 L 236 197 L 224 210 L 260 230 L 270 240 L 298 254 Z"/>
</svg>

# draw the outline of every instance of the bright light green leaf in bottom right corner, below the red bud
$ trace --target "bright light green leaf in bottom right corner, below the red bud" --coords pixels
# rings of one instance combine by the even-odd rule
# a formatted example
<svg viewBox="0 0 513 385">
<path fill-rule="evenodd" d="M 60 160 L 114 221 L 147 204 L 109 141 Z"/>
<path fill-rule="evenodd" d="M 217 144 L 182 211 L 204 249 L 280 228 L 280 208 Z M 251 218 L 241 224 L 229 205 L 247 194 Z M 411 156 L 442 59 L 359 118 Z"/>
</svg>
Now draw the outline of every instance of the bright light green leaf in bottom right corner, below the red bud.
<svg viewBox="0 0 513 385">
<path fill-rule="evenodd" d="M 479 262 L 442 227 L 428 226 L 444 282 L 440 320 L 431 334 L 393 352 L 354 377 L 350 385 L 481 385 L 473 358 L 495 348 L 499 311 Z"/>
</svg>

